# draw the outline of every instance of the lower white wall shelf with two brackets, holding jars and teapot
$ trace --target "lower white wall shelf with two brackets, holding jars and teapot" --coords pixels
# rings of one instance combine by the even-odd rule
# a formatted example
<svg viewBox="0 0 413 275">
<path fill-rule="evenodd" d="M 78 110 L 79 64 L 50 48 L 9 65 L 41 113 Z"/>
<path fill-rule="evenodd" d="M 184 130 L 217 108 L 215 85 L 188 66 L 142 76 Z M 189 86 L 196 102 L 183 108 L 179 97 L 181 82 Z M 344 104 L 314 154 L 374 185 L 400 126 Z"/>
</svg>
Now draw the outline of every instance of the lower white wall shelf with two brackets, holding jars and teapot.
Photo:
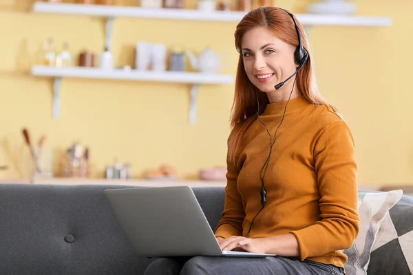
<svg viewBox="0 0 413 275">
<path fill-rule="evenodd" d="M 231 75 L 203 74 L 196 72 L 141 72 L 135 69 L 103 70 L 99 68 L 89 67 L 58 68 L 50 66 L 34 66 L 32 67 L 32 75 L 54 78 L 54 118 L 59 117 L 60 113 L 61 80 L 63 78 L 96 78 L 112 80 L 151 81 L 164 83 L 187 83 L 192 85 L 190 92 L 191 106 L 189 109 L 190 124 L 195 124 L 196 121 L 197 99 L 200 85 L 222 85 L 233 83 L 233 76 Z"/>
</svg>

